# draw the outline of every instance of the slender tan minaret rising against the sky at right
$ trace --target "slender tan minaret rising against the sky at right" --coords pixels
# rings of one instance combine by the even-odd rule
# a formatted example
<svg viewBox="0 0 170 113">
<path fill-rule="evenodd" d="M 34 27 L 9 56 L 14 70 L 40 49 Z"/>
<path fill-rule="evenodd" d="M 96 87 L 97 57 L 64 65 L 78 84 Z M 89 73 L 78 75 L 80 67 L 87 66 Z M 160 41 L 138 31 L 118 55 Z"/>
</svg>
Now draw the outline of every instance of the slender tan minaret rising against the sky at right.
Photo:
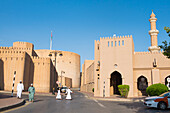
<svg viewBox="0 0 170 113">
<path fill-rule="evenodd" d="M 153 13 L 153 10 L 152 10 L 152 14 L 149 19 L 151 23 L 151 30 L 149 31 L 149 35 L 151 36 L 151 46 L 148 48 L 148 50 L 150 52 L 160 51 L 160 47 L 158 47 L 158 40 L 157 40 L 157 35 L 159 31 L 156 29 L 156 20 L 157 18 L 155 18 L 155 14 Z"/>
</svg>

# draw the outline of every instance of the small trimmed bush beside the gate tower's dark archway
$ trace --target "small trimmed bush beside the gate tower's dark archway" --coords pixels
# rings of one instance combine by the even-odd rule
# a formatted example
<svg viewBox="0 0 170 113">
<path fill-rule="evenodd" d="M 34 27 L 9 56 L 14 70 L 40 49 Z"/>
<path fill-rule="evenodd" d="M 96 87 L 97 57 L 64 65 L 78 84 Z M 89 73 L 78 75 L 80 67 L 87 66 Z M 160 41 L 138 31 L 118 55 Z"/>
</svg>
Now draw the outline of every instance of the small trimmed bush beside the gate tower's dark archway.
<svg viewBox="0 0 170 113">
<path fill-rule="evenodd" d="M 118 85 L 120 95 L 127 98 L 129 93 L 129 85 Z"/>
</svg>

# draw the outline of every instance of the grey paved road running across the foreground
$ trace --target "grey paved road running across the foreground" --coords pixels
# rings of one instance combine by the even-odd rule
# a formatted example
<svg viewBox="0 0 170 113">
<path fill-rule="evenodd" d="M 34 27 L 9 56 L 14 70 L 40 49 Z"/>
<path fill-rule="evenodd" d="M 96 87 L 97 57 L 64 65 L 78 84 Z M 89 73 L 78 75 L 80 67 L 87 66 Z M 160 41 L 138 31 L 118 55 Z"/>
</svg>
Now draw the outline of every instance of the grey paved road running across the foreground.
<svg viewBox="0 0 170 113">
<path fill-rule="evenodd" d="M 55 97 L 35 97 L 36 101 L 8 113 L 169 113 L 168 110 L 146 108 L 141 102 L 113 102 L 90 100 L 74 92 L 73 100 L 55 100 Z"/>
</svg>

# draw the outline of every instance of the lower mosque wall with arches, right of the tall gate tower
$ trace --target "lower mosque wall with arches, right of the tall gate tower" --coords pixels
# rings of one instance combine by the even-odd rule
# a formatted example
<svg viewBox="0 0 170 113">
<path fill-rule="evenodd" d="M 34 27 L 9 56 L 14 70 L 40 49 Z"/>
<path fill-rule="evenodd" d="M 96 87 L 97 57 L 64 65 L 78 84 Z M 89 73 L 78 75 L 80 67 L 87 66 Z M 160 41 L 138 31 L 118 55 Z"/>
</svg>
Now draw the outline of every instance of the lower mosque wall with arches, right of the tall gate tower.
<svg viewBox="0 0 170 113">
<path fill-rule="evenodd" d="M 153 67 L 154 59 L 157 67 Z M 134 53 L 134 96 L 140 96 L 137 89 L 137 79 L 140 76 L 147 78 L 148 86 L 155 83 L 165 84 L 165 78 L 170 75 L 170 59 L 161 52 L 135 52 Z"/>
</svg>

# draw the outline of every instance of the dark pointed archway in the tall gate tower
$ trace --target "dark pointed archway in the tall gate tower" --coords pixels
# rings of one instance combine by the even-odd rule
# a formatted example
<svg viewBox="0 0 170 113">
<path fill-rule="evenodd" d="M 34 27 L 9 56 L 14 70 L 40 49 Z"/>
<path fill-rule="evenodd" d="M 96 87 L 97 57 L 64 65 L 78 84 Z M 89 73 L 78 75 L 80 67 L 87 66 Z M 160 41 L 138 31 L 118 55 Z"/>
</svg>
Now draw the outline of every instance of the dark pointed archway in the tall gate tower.
<svg viewBox="0 0 170 113">
<path fill-rule="evenodd" d="M 122 76 L 119 72 L 115 71 L 111 74 L 110 78 L 110 90 L 111 95 L 112 94 L 118 94 L 120 95 L 120 92 L 118 90 L 118 85 L 122 84 Z M 113 89 L 112 89 L 113 88 Z"/>
</svg>

